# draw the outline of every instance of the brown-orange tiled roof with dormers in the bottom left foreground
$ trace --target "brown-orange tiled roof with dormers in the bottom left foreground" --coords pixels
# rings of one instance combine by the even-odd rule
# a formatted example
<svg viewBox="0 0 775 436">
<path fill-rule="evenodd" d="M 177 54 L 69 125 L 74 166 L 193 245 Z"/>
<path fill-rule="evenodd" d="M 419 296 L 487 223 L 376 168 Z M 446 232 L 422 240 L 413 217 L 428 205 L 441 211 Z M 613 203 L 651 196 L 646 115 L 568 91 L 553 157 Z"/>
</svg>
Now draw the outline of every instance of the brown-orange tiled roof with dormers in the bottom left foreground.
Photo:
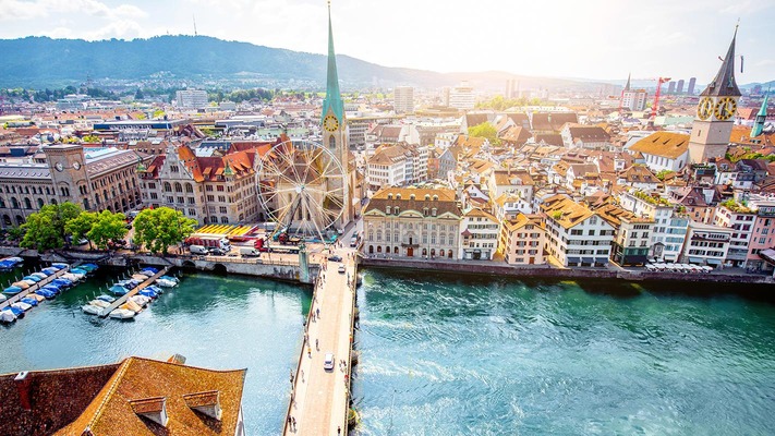
<svg viewBox="0 0 775 436">
<path fill-rule="evenodd" d="M 244 435 L 247 370 L 129 358 L 0 375 L 2 435 Z"/>
</svg>

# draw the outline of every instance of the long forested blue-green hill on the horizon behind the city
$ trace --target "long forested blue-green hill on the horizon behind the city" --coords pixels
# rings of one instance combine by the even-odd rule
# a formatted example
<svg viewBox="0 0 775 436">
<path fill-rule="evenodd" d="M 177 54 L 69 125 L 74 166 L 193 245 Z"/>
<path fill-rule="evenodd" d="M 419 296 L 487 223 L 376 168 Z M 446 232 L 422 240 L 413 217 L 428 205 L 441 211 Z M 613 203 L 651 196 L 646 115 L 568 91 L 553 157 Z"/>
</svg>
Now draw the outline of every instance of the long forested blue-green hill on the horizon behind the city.
<svg viewBox="0 0 775 436">
<path fill-rule="evenodd" d="M 0 39 L 0 86 L 46 87 L 95 80 L 187 80 L 193 83 L 227 81 L 258 86 L 295 84 L 323 87 L 326 59 L 323 55 L 227 41 L 207 36 L 158 36 L 149 39 L 51 39 L 26 37 Z M 339 77 L 344 89 L 373 86 L 453 86 L 462 80 L 480 88 L 501 89 L 507 77 L 520 80 L 522 88 L 584 88 L 594 86 L 560 78 L 517 76 L 504 72 L 437 73 L 389 68 L 338 56 Z M 292 81 L 292 82 L 291 82 Z"/>
</svg>

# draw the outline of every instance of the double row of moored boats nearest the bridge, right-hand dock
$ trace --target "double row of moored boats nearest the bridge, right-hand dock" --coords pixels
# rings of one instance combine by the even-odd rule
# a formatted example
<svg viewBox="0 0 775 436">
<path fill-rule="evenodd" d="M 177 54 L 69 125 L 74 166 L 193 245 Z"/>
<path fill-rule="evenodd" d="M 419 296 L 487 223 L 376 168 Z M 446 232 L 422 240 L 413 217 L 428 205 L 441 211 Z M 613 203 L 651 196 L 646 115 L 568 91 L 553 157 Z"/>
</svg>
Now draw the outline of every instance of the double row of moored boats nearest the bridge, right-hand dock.
<svg viewBox="0 0 775 436">
<path fill-rule="evenodd" d="M 105 315 L 105 311 L 113 305 L 116 300 L 124 296 L 125 294 L 132 292 L 135 288 L 140 287 L 149 278 L 156 276 L 159 272 L 158 269 L 154 267 L 146 267 L 136 274 L 133 274 L 130 278 L 120 280 L 111 286 L 108 291 L 112 294 L 102 294 L 85 304 L 81 310 L 89 315 Z M 118 319 L 131 319 L 134 318 L 138 313 L 141 313 L 152 301 L 156 300 L 161 293 L 164 293 L 164 288 L 173 288 L 178 286 L 178 278 L 171 276 L 161 276 L 157 278 L 155 284 L 149 284 L 130 296 L 121 305 L 113 308 L 108 316 Z"/>
</svg>

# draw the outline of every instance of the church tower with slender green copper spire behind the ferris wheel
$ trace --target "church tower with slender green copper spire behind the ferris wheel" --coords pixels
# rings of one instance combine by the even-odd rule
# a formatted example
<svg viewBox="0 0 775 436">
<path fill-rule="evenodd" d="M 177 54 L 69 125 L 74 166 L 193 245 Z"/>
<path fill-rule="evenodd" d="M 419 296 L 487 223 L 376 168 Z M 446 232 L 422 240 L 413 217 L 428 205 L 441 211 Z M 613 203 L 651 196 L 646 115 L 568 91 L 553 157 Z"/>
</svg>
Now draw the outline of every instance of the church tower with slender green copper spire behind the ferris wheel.
<svg viewBox="0 0 775 436">
<path fill-rule="evenodd" d="M 326 98 L 323 100 L 320 113 L 323 126 L 323 145 L 341 162 L 343 171 L 343 214 L 341 227 L 352 219 L 352 181 L 349 168 L 350 147 L 348 144 L 347 119 L 344 102 L 339 92 L 339 75 L 337 74 L 337 58 L 334 52 L 334 31 L 331 28 L 331 2 L 328 2 L 328 72 L 326 78 Z"/>
</svg>

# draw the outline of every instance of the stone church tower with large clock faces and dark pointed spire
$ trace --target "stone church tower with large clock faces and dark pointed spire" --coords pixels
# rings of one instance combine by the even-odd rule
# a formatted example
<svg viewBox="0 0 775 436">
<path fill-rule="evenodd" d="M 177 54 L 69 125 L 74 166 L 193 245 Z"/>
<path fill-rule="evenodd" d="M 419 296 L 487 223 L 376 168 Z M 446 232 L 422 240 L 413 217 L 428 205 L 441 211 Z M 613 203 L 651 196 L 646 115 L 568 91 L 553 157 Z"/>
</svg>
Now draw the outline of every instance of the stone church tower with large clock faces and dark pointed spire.
<svg viewBox="0 0 775 436">
<path fill-rule="evenodd" d="M 706 162 L 713 157 L 724 157 L 727 153 L 737 101 L 741 95 L 735 82 L 736 38 L 737 27 L 716 77 L 700 94 L 689 140 L 689 159 L 693 164 Z"/>
</svg>

